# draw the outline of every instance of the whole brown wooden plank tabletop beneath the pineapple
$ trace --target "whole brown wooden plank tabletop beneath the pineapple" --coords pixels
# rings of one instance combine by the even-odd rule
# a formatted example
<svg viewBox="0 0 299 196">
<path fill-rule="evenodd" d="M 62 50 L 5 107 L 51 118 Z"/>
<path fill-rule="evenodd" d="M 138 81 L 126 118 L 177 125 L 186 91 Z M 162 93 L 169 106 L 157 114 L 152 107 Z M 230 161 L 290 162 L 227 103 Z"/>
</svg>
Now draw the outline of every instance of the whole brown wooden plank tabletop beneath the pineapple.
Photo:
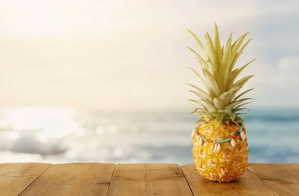
<svg viewBox="0 0 299 196">
<path fill-rule="evenodd" d="M 3 163 L 0 196 L 299 196 L 299 164 L 251 164 L 218 183 L 194 164 Z"/>
</svg>

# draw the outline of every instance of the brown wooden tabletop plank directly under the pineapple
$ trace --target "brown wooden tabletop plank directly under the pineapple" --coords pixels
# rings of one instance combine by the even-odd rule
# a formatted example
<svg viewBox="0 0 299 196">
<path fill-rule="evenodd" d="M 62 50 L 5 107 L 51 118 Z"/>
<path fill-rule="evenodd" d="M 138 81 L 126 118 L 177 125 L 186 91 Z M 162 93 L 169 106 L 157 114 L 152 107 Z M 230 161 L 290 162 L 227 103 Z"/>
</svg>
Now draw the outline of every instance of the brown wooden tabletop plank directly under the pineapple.
<svg viewBox="0 0 299 196">
<path fill-rule="evenodd" d="M 196 173 L 193 163 L 181 169 L 194 196 L 279 196 L 249 169 L 238 181 L 230 183 L 211 182 Z"/>
</svg>

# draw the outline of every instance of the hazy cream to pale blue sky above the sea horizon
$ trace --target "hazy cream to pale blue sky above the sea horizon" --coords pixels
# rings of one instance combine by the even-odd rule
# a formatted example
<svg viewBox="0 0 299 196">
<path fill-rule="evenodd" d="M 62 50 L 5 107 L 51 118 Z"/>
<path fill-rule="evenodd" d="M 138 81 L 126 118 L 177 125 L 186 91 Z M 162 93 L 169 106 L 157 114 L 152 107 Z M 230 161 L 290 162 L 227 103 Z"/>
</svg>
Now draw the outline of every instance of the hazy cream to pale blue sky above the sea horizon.
<svg viewBox="0 0 299 196">
<path fill-rule="evenodd" d="M 186 29 L 250 31 L 251 107 L 299 107 L 298 0 L 1 0 L 0 108 L 191 109 L 203 87 Z"/>
</svg>

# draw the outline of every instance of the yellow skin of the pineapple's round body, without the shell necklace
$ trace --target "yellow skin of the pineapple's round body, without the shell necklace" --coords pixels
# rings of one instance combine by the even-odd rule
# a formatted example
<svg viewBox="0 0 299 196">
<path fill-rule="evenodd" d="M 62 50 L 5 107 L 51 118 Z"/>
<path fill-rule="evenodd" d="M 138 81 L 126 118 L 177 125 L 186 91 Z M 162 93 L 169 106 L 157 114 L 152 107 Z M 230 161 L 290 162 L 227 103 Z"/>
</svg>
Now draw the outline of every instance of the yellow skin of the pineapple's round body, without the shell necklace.
<svg viewBox="0 0 299 196">
<path fill-rule="evenodd" d="M 224 140 L 233 137 L 239 131 L 238 124 L 222 122 L 218 127 L 214 122 L 204 122 L 197 127 L 197 132 L 204 138 Z M 197 135 L 197 134 L 196 134 Z M 240 134 L 234 139 L 236 146 L 230 141 L 220 143 L 220 150 L 214 150 L 215 143 L 203 141 L 202 145 L 197 143 L 198 136 L 193 138 L 193 159 L 197 171 L 210 181 L 230 182 L 240 178 L 247 167 L 248 144 L 247 137 L 243 141 Z"/>
</svg>

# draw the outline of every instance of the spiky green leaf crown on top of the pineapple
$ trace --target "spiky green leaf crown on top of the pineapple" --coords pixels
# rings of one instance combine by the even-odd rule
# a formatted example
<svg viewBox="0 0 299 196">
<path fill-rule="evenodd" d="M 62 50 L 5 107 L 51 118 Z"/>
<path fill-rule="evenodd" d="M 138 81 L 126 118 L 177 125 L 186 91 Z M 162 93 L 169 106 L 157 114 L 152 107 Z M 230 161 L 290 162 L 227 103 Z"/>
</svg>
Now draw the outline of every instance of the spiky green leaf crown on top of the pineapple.
<svg viewBox="0 0 299 196">
<path fill-rule="evenodd" d="M 188 30 L 188 29 L 187 29 Z M 198 88 L 192 84 L 187 84 L 194 88 L 196 91 L 190 90 L 199 97 L 199 100 L 188 99 L 189 101 L 199 104 L 200 107 L 194 106 L 194 111 L 191 114 L 197 114 L 201 117 L 196 122 L 205 121 L 215 121 L 217 125 L 221 122 L 234 122 L 242 121 L 244 118 L 240 115 L 246 113 L 237 113 L 239 111 L 248 110 L 247 108 L 241 108 L 242 106 L 249 104 L 251 102 L 245 102 L 253 98 L 243 98 L 239 99 L 245 93 L 253 90 L 249 89 L 243 93 L 236 96 L 237 92 L 242 88 L 242 86 L 254 75 L 245 76 L 238 81 L 235 81 L 238 75 L 243 71 L 249 64 L 251 64 L 256 59 L 252 60 L 248 64 L 242 66 L 241 68 L 235 68 L 234 66 L 242 54 L 245 47 L 252 40 L 249 39 L 242 47 L 242 42 L 244 41 L 246 35 L 245 33 L 239 37 L 234 43 L 232 43 L 232 33 L 230 34 L 226 45 L 220 45 L 218 28 L 215 23 L 214 27 L 214 42 L 212 42 L 208 32 L 205 34 L 206 39 L 206 49 L 200 40 L 196 37 L 194 33 L 188 30 L 190 34 L 195 39 L 196 43 L 203 52 L 204 58 L 202 58 L 196 51 L 190 49 L 195 55 L 196 60 L 199 62 L 202 68 L 203 77 L 193 68 L 190 68 L 201 80 L 205 86 L 206 91 Z M 236 97 L 235 97 L 236 96 Z"/>
</svg>

